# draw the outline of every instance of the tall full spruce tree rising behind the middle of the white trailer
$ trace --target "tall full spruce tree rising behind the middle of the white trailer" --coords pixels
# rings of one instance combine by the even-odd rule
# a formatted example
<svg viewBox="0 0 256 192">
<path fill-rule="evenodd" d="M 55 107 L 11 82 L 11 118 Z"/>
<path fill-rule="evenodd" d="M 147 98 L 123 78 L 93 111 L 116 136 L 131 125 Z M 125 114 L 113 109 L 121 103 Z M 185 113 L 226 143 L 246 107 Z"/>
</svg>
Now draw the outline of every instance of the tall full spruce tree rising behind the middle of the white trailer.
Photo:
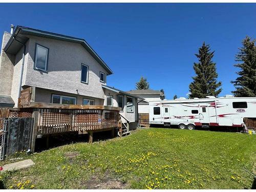
<svg viewBox="0 0 256 192">
<path fill-rule="evenodd" d="M 196 73 L 193 82 L 189 84 L 189 98 L 205 98 L 207 95 L 217 97 L 222 88 L 221 82 L 217 82 L 218 74 L 216 72 L 216 63 L 212 61 L 214 51 L 210 52 L 210 46 L 203 42 L 202 47 L 199 48 L 199 53 L 195 54 L 199 62 L 194 62 L 194 70 Z"/>
</svg>

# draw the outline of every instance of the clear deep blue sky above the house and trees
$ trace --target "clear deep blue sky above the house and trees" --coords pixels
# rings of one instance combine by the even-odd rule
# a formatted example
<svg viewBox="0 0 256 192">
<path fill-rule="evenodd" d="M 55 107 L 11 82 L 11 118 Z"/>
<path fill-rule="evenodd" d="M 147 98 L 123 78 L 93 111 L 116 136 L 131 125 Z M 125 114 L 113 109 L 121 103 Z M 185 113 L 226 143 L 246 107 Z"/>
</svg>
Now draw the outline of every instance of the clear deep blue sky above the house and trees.
<svg viewBox="0 0 256 192">
<path fill-rule="evenodd" d="M 205 41 L 215 50 L 223 91 L 234 90 L 234 56 L 256 38 L 256 4 L 1 4 L 0 31 L 10 25 L 80 37 L 114 71 L 109 86 L 135 89 L 141 76 L 167 99 L 186 96 L 195 53 Z"/>
</svg>

